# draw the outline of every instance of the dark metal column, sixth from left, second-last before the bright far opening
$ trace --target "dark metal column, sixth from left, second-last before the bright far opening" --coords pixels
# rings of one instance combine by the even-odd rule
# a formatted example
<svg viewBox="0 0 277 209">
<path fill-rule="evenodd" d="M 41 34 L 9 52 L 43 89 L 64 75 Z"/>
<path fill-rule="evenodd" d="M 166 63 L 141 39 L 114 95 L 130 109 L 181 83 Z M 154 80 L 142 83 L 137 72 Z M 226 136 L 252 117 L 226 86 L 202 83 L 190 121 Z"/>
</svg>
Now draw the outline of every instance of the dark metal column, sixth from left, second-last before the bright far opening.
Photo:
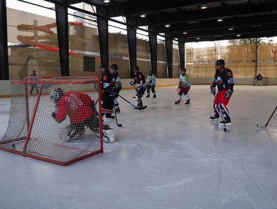
<svg viewBox="0 0 277 209">
<path fill-rule="evenodd" d="M 165 41 L 166 41 L 166 62 L 167 62 L 167 74 L 168 78 L 173 78 L 173 41 L 172 41 L 172 33 L 165 33 Z"/>
</svg>

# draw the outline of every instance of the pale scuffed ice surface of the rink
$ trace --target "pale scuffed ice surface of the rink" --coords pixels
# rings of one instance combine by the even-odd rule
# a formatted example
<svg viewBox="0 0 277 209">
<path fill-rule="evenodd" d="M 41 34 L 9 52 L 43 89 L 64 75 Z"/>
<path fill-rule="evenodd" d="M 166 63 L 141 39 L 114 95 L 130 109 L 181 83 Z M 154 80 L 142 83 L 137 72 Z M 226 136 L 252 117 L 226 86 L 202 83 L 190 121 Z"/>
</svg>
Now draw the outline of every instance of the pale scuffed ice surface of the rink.
<svg viewBox="0 0 277 209">
<path fill-rule="evenodd" d="M 277 208 L 277 86 L 234 86 L 227 132 L 213 115 L 208 85 L 192 85 L 190 106 L 176 87 L 143 97 L 134 111 L 106 122 L 116 142 L 104 153 L 68 166 L 0 150 L 0 208 Z M 121 95 L 136 104 L 134 90 Z M 0 137 L 6 132 L 10 98 L 0 99 Z M 51 114 L 51 112 L 49 112 Z"/>
</svg>

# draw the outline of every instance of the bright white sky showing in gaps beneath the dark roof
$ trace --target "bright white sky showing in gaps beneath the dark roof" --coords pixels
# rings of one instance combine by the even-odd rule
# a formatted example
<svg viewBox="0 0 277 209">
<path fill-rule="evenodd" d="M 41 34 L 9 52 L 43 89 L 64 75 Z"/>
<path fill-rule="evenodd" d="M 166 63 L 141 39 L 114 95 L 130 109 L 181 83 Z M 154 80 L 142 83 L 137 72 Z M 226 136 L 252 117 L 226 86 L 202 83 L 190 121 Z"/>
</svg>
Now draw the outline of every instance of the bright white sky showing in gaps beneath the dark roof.
<svg viewBox="0 0 277 209">
<path fill-rule="evenodd" d="M 41 6 L 44 6 L 44 7 L 48 7 L 48 8 L 54 8 L 54 4 L 49 3 L 49 2 L 45 2 L 43 0 L 28 0 L 28 2 L 33 3 L 33 4 L 37 4 L 37 5 L 41 5 Z M 51 11 L 49 9 L 45 9 L 45 8 L 42 8 L 42 7 L 37 7 L 37 6 L 31 5 L 31 4 L 26 4 L 26 3 L 19 2 L 19 1 L 16 1 L 16 0 L 7 0 L 6 4 L 7 4 L 8 8 L 18 9 L 18 10 L 26 11 L 26 12 L 29 12 L 29 13 L 34 13 L 34 14 L 38 14 L 38 15 L 44 15 L 44 16 L 47 16 L 47 17 L 55 18 L 55 12 Z M 82 4 L 75 4 L 73 6 L 78 7 L 78 8 L 82 8 Z M 68 13 L 73 14 L 73 12 L 74 12 L 74 10 L 68 9 Z M 117 20 L 123 21 L 123 18 L 122 17 L 117 17 Z M 68 21 L 74 21 L 74 18 L 73 18 L 72 15 L 68 16 Z M 110 21 L 109 24 L 111 24 L 111 23 L 114 24 L 117 27 L 122 27 L 122 25 L 116 24 L 116 23 L 113 23 L 113 22 Z M 124 33 L 124 34 L 127 33 L 124 30 L 120 30 L 120 29 L 114 28 L 114 27 L 109 27 L 109 32 L 115 32 L 115 33 L 121 32 L 121 33 Z M 144 31 L 137 31 L 137 32 L 147 35 L 147 33 L 144 32 Z M 137 34 L 137 37 L 140 38 L 140 39 L 148 39 L 148 37 L 145 36 L 145 35 Z M 161 36 L 158 36 L 157 39 L 163 40 L 163 38 Z M 277 37 L 274 37 L 273 40 L 275 42 L 277 42 Z M 214 45 L 215 45 L 215 42 L 186 43 L 186 46 L 193 47 L 193 48 L 212 47 Z M 220 46 L 226 46 L 226 45 L 228 45 L 227 40 L 226 41 L 220 41 Z"/>
</svg>

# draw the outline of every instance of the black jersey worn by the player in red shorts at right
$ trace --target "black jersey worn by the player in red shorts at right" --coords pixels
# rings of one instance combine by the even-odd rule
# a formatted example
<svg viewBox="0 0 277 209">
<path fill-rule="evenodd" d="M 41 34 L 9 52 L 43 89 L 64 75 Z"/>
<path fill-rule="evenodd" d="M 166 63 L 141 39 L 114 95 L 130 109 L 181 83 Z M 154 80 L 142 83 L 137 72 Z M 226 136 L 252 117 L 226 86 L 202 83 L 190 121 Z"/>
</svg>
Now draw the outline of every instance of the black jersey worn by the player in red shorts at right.
<svg viewBox="0 0 277 209">
<path fill-rule="evenodd" d="M 234 86 L 233 72 L 228 68 L 224 68 L 221 72 L 216 70 L 212 86 L 216 86 L 219 91 L 232 89 Z"/>
</svg>

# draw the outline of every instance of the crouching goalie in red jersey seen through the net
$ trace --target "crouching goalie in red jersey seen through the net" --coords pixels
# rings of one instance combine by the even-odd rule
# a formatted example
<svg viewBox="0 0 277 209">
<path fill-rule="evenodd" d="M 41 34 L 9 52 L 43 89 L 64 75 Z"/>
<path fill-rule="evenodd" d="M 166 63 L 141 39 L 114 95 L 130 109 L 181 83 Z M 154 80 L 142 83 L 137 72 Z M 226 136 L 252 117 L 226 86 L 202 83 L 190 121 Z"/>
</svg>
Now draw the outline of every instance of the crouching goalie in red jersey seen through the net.
<svg viewBox="0 0 277 209">
<path fill-rule="evenodd" d="M 52 117 L 57 123 L 69 117 L 71 124 L 67 127 L 66 142 L 82 137 L 85 126 L 94 132 L 99 128 L 99 113 L 95 109 L 94 100 L 88 94 L 77 91 L 64 93 L 63 89 L 55 88 L 50 92 L 50 99 L 55 106 Z M 106 126 L 103 129 L 109 128 Z"/>
</svg>

